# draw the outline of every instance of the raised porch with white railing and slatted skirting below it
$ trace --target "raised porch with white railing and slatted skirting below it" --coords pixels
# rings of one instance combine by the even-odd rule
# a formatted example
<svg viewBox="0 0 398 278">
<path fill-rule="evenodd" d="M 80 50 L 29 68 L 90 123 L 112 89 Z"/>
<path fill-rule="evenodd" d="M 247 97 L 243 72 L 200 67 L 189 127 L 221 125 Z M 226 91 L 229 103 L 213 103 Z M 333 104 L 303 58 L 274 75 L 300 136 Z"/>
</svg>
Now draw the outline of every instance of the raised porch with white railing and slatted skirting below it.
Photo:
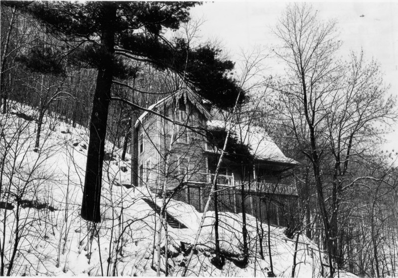
<svg viewBox="0 0 398 278">
<path fill-rule="evenodd" d="M 214 175 L 209 174 L 206 183 L 186 182 L 182 190 L 173 198 L 203 212 L 213 178 Z M 292 225 L 298 220 L 298 215 L 296 215 L 298 196 L 296 188 L 292 185 L 252 182 L 250 187 L 245 185 L 242 194 L 241 181 L 235 181 L 226 175 L 219 175 L 217 181 L 219 212 L 242 213 L 244 208 L 246 214 L 251 214 L 261 222 L 269 222 L 281 227 Z M 209 210 L 214 210 L 214 199 L 210 202 Z"/>
</svg>

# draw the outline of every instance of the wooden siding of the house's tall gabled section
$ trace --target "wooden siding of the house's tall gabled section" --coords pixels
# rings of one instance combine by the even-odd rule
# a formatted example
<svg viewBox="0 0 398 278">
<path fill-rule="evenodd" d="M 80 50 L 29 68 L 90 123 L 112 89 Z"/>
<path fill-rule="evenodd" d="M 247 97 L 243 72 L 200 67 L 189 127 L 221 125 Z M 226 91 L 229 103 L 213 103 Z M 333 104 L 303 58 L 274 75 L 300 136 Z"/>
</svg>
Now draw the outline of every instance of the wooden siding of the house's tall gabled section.
<svg viewBox="0 0 398 278">
<path fill-rule="evenodd" d="M 174 107 L 161 107 L 159 113 L 189 126 L 204 127 L 203 115 L 189 101 L 186 104 L 185 121 L 180 110 L 174 114 Z M 173 131 L 174 129 L 174 131 Z M 173 135 L 173 143 L 170 149 L 170 140 Z M 144 177 L 138 177 L 138 185 L 146 185 L 150 190 L 159 192 L 166 181 L 166 190 L 171 191 L 188 180 L 197 180 L 197 173 L 206 171 L 206 158 L 203 156 L 205 138 L 186 127 L 165 120 L 159 116 L 148 114 L 138 126 L 137 136 L 143 137 L 143 151 L 140 152 L 140 140 L 138 139 L 138 176 L 139 167 L 144 168 Z M 168 158 L 166 158 L 166 154 Z M 166 168 L 166 159 L 168 167 Z M 150 161 L 151 167 L 146 167 Z M 136 167 L 137 168 L 137 167 Z M 147 176 L 149 178 L 147 178 Z M 140 181 L 141 180 L 141 181 Z"/>
</svg>

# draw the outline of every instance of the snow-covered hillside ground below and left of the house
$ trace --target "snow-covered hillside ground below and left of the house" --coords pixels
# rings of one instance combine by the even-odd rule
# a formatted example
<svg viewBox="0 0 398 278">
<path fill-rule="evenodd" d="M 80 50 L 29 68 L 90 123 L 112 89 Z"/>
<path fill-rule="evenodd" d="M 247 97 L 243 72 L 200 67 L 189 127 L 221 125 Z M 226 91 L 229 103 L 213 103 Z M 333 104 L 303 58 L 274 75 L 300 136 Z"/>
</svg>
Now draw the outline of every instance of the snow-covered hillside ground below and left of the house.
<svg viewBox="0 0 398 278">
<path fill-rule="evenodd" d="M 156 251 L 153 250 L 156 250 L 155 231 L 159 219 L 143 197 L 159 205 L 161 200 L 145 187 L 127 189 L 121 186 L 130 183 L 130 159 L 122 161 L 121 150 L 106 143 L 106 152 L 115 156 L 104 163 L 103 220 L 93 225 L 80 217 L 88 131 L 47 117 L 40 148 L 35 151 L 36 123 L 15 115 L 18 112 L 32 115 L 34 111 L 15 104 L 12 112 L 0 116 L 1 159 L 5 159 L 1 162 L 4 170 L 0 198 L 4 274 L 12 263 L 12 275 L 155 276 Z M 13 209 L 4 209 L 7 206 Z M 193 243 L 202 213 L 173 200 L 167 211 L 188 227 L 168 227 L 169 274 L 181 276 L 187 259 L 184 248 Z M 214 247 L 214 212 L 209 211 L 205 216 L 198 253 L 190 265 L 189 276 L 268 276 L 267 224 L 262 224 L 264 259 L 260 256 L 256 219 L 247 215 L 249 263 L 240 268 L 227 259 L 220 270 L 210 262 Z M 237 258 L 242 249 L 241 218 L 241 214 L 220 213 L 221 250 Z M 162 242 L 164 235 L 163 231 Z M 285 236 L 284 229 L 275 226 L 270 227 L 270 241 L 274 273 L 291 277 L 295 242 Z M 305 236 L 301 235 L 299 242 L 296 276 L 320 277 L 321 253 Z M 162 269 L 165 269 L 164 261 Z"/>
</svg>

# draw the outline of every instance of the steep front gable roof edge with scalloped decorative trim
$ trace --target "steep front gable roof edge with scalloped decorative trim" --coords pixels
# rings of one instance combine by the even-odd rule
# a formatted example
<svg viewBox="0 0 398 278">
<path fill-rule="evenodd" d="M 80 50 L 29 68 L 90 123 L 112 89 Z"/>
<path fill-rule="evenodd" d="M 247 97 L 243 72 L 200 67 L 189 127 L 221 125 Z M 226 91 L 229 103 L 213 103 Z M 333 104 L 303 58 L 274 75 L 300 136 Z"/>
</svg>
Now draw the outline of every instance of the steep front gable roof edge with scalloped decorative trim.
<svg viewBox="0 0 398 278">
<path fill-rule="evenodd" d="M 181 89 L 178 92 L 176 92 L 174 94 L 171 94 L 171 95 L 169 95 L 169 96 L 167 96 L 165 98 L 162 98 L 161 100 L 159 100 L 155 104 L 152 104 L 151 106 L 149 106 L 147 109 L 156 111 L 162 105 L 166 105 L 166 106 L 170 105 L 174 100 L 178 100 L 178 99 L 180 99 L 183 96 L 184 96 L 185 103 L 187 103 L 187 100 L 189 100 L 193 105 L 195 105 L 195 107 L 199 110 L 199 112 L 204 115 L 204 117 L 206 119 L 211 119 L 211 114 L 201 104 L 200 97 L 196 93 L 194 93 L 194 92 L 192 92 L 192 91 L 190 91 L 189 89 L 186 89 L 186 88 L 185 89 Z M 144 113 L 142 113 L 141 116 L 135 122 L 134 127 L 137 128 L 138 125 L 145 119 L 145 117 L 149 113 L 150 112 L 148 112 L 148 111 L 145 111 Z"/>
</svg>

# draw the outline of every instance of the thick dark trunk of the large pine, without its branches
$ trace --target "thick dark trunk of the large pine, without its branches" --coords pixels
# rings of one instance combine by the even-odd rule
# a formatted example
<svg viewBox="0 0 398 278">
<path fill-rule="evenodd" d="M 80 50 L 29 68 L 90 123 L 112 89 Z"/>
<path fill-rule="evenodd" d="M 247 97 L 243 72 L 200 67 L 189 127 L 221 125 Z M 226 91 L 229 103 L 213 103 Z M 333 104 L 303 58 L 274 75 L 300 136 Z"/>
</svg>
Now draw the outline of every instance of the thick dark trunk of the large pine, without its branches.
<svg viewBox="0 0 398 278">
<path fill-rule="evenodd" d="M 113 74 L 114 30 L 112 30 L 112 22 L 116 17 L 116 6 L 114 3 L 109 3 L 104 8 L 106 8 L 104 12 L 107 14 L 106 20 L 108 22 L 103 24 L 105 30 L 102 32 L 101 43 L 107 53 L 103 57 L 104 62 L 97 75 L 81 210 L 82 218 L 93 222 L 100 222 L 102 164 Z"/>
</svg>

